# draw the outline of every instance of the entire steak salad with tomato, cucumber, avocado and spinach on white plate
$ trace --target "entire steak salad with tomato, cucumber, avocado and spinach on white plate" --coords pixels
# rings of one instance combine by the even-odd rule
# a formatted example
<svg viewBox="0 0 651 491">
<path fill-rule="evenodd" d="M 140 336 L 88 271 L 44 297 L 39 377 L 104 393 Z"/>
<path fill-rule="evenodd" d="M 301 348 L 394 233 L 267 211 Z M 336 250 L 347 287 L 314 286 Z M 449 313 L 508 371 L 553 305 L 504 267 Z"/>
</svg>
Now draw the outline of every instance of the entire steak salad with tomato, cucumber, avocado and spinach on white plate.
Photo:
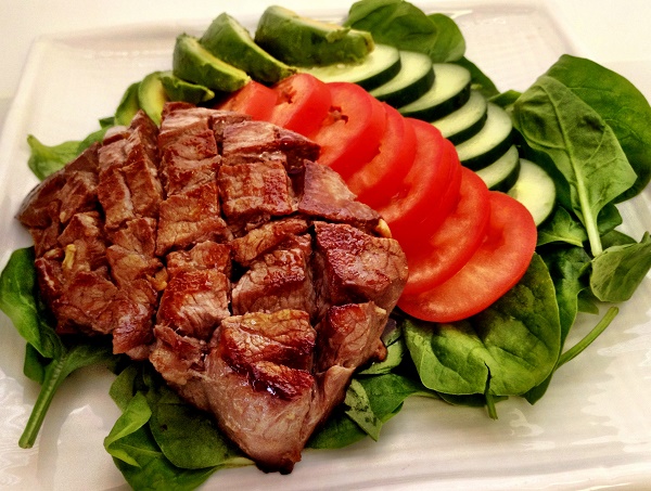
<svg viewBox="0 0 651 491">
<path fill-rule="evenodd" d="M 344 26 L 270 8 L 255 40 L 227 14 L 179 35 L 102 130 L 28 139 L 34 247 L 0 277 L 42 386 L 21 447 L 95 362 L 123 411 L 104 447 L 136 489 L 290 473 L 305 447 L 378 439 L 411 395 L 494 418 L 535 403 L 617 307 L 563 350 L 579 311 L 651 267 L 649 235 L 614 230 L 651 175 L 648 114 L 569 55 L 500 94 L 449 17 L 401 0 Z"/>
</svg>

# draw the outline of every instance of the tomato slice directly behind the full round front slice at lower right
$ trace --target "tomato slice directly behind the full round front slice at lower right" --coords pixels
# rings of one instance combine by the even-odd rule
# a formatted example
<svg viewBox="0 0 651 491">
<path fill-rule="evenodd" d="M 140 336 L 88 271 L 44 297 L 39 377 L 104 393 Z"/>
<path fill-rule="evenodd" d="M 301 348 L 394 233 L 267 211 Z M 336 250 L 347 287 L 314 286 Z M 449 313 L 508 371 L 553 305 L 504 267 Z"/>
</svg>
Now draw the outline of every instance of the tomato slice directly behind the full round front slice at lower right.
<svg viewBox="0 0 651 491">
<path fill-rule="evenodd" d="M 422 241 L 403 244 L 409 279 L 403 295 L 430 289 L 455 275 L 486 236 L 490 217 L 488 188 L 472 170 L 460 167 L 461 188 L 455 209 Z"/>
</svg>

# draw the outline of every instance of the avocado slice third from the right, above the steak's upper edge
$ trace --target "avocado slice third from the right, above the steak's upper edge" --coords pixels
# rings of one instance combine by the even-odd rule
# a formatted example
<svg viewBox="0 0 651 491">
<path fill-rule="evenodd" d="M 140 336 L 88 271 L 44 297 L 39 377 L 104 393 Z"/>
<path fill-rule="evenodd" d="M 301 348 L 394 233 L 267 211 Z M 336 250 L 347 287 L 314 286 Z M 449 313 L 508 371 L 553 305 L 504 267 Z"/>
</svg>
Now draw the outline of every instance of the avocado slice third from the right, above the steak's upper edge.
<svg viewBox="0 0 651 491">
<path fill-rule="evenodd" d="M 218 92 L 234 92 L 251 81 L 246 72 L 219 60 L 187 34 L 176 39 L 171 66 L 175 76 Z"/>
</svg>

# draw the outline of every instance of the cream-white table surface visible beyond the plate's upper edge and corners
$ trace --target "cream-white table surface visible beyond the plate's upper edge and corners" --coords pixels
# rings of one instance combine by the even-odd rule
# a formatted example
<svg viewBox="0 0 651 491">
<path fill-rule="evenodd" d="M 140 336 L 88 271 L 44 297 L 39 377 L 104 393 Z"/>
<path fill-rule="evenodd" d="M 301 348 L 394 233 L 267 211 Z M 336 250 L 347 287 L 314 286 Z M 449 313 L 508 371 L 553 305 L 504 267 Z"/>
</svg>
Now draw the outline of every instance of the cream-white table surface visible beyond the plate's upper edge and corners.
<svg viewBox="0 0 651 491">
<path fill-rule="evenodd" d="M 531 0 L 533 2 L 537 0 Z M 539 0 L 551 5 L 580 54 L 627 77 L 651 99 L 651 0 Z M 505 0 L 526 4 L 528 0 Z M 328 0 L 0 0 L 0 132 L 16 94 L 30 46 L 43 35 L 135 23 L 209 21 L 220 12 L 257 15 L 268 4 L 298 12 L 345 11 L 350 1 Z M 414 2 L 422 3 L 422 2 Z M 429 5 L 472 5 L 481 0 L 448 0 Z M 306 7 L 309 5 L 309 7 Z M 471 50 L 472 47 L 469 47 Z M 651 124 L 651 121 L 650 121 Z M 0 484 L 1 487 L 1 484 Z"/>
</svg>

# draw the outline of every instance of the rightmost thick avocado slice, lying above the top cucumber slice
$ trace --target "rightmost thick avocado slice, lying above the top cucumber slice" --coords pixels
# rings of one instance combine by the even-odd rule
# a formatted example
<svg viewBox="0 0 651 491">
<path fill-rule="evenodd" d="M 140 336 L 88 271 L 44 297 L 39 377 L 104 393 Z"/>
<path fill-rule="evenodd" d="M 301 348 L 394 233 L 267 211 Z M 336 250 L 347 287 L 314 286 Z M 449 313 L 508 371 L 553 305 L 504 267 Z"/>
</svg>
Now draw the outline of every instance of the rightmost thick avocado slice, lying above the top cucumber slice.
<svg viewBox="0 0 651 491">
<path fill-rule="evenodd" d="M 255 42 L 295 66 L 360 63 L 374 48 L 370 33 L 303 17 L 278 5 L 263 13 Z"/>
</svg>

